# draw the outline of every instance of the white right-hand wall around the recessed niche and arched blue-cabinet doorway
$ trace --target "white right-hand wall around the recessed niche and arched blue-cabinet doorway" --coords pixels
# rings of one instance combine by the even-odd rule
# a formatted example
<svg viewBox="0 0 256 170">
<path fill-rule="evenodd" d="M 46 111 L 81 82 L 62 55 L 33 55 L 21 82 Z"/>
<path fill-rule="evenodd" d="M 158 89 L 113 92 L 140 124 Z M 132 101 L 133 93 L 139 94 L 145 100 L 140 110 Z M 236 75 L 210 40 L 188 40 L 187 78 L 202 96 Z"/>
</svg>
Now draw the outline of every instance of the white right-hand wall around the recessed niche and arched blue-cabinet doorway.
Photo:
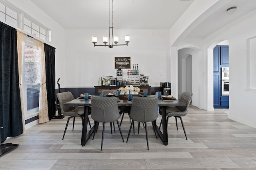
<svg viewBox="0 0 256 170">
<path fill-rule="evenodd" d="M 217 42 L 220 39 L 228 40 L 230 68 L 228 118 L 252 127 L 256 127 L 256 114 L 254 111 L 256 91 L 246 91 L 246 40 L 256 36 L 255 20 L 256 11 L 250 12 L 205 38 L 207 44 Z"/>
</svg>

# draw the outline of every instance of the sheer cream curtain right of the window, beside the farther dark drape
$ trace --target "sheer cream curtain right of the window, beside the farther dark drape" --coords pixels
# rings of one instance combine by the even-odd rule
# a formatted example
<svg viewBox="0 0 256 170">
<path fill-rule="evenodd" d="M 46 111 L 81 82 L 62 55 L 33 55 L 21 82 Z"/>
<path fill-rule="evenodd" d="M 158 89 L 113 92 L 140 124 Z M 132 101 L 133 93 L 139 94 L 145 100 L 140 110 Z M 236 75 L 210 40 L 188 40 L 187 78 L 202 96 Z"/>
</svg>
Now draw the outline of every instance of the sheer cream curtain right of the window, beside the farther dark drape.
<svg viewBox="0 0 256 170">
<path fill-rule="evenodd" d="M 38 73 L 38 80 L 40 82 L 40 94 L 39 94 L 39 123 L 45 123 L 49 121 L 48 117 L 48 103 L 46 92 L 46 72 L 45 72 L 45 55 L 44 55 L 44 43 L 33 39 L 34 60 Z"/>
</svg>

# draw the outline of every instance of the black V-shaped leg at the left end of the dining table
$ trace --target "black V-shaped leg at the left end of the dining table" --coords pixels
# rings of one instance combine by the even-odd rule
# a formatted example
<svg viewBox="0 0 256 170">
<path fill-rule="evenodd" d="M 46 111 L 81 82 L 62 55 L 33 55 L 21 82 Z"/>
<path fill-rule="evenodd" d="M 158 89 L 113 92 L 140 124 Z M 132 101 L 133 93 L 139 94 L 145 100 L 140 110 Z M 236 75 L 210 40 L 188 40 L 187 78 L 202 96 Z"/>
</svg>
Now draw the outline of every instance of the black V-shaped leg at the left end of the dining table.
<svg viewBox="0 0 256 170">
<path fill-rule="evenodd" d="M 94 123 L 92 129 L 87 133 L 88 114 L 89 114 L 89 106 L 84 106 L 84 122 L 83 122 L 82 139 L 81 139 L 82 147 L 84 147 L 84 145 L 90 139 L 90 137 L 94 133 L 94 129 L 95 129 L 95 123 Z"/>
</svg>

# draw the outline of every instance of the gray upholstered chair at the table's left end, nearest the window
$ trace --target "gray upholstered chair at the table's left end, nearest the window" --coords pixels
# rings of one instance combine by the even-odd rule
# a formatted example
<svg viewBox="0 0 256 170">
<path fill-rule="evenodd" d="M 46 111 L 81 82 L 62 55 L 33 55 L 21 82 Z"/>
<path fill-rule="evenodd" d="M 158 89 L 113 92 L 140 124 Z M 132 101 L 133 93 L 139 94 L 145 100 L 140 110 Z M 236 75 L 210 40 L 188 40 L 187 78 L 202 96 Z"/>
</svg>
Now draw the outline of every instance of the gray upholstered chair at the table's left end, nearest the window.
<svg viewBox="0 0 256 170">
<path fill-rule="evenodd" d="M 83 125 L 83 121 L 84 121 L 84 107 L 83 106 L 65 106 L 64 103 L 69 102 L 71 100 L 74 100 L 74 96 L 72 95 L 71 92 L 62 92 L 62 93 L 57 93 L 57 97 L 58 100 L 60 102 L 60 110 L 61 113 L 65 116 L 68 116 L 68 121 L 66 123 L 66 127 L 65 127 L 65 131 L 62 137 L 62 140 L 64 139 L 64 136 L 66 134 L 67 128 L 68 128 L 68 122 L 70 120 L 70 118 L 74 118 L 73 119 L 73 128 L 72 130 L 74 130 L 74 124 L 75 124 L 75 118 L 76 117 L 80 117 L 82 119 L 82 125 Z M 88 119 L 88 123 L 91 127 L 90 121 Z M 92 127 L 91 127 L 92 128 Z"/>
</svg>

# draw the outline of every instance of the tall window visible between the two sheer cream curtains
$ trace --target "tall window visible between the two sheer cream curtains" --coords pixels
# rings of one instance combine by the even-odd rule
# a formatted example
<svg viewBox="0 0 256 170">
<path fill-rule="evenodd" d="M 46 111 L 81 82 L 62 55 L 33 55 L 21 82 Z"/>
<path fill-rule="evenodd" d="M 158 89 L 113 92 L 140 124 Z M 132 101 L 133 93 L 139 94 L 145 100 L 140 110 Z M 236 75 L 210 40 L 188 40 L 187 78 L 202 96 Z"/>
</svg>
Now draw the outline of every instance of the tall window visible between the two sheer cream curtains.
<svg viewBox="0 0 256 170">
<path fill-rule="evenodd" d="M 34 64 L 34 50 L 27 46 L 24 48 L 24 67 L 22 75 L 23 100 L 25 117 L 38 113 L 40 83 L 38 83 L 37 68 Z"/>
</svg>

